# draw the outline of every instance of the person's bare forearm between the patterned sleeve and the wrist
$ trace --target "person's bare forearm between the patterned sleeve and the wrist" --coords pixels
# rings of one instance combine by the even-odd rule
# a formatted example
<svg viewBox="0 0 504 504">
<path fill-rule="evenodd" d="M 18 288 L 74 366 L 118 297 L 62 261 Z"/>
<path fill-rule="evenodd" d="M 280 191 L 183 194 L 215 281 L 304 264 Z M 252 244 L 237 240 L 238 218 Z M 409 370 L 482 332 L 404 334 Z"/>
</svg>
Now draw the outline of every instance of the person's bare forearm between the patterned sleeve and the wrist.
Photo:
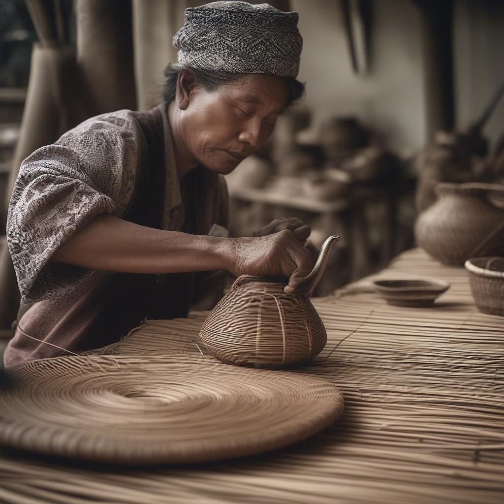
<svg viewBox="0 0 504 504">
<path fill-rule="evenodd" d="M 52 261 L 124 273 L 226 270 L 230 240 L 149 228 L 106 214 L 62 244 Z"/>
</svg>

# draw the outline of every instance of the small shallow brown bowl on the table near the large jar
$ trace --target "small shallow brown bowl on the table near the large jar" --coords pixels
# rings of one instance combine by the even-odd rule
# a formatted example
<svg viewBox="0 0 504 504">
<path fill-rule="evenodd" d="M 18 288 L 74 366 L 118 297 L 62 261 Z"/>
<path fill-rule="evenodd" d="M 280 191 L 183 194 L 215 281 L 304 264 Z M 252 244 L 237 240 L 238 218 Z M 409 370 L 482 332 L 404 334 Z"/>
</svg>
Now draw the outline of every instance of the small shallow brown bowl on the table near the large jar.
<svg viewBox="0 0 504 504">
<path fill-rule="evenodd" d="M 377 280 L 374 287 L 388 304 L 425 308 L 433 306 L 450 284 L 443 280 Z"/>
</svg>

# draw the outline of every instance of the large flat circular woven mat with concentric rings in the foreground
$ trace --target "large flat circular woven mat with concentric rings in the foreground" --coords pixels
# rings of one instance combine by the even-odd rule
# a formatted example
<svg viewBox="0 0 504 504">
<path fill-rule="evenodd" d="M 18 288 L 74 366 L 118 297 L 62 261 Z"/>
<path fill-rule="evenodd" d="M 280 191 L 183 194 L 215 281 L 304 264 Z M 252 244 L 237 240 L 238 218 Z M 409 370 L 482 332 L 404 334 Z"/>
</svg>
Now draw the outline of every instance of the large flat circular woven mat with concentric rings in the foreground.
<svg viewBox="0 0 504 504">
<path fill-rule="evenodd" d="M 93 359 L 15 367 L 17 386 L 0 391 L 0 443 L 132 465 L 201 462 L 289 445 L 343 411 L 338 389 L 303 374 L 201 356 Z"/>
</svg>

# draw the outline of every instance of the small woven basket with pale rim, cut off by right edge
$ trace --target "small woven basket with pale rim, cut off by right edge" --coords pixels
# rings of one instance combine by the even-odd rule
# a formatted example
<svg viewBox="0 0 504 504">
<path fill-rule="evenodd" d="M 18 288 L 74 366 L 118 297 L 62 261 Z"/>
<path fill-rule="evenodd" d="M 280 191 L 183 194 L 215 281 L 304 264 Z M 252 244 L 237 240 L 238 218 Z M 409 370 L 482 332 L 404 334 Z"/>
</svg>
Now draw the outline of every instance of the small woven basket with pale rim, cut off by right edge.
<svg viewBox="0 0 504 504">
<path fill-rule="evenodd" d="M 504 258 L 472 258 L 465 267 L 478 310 L 504 317 Z"/>
</svg>

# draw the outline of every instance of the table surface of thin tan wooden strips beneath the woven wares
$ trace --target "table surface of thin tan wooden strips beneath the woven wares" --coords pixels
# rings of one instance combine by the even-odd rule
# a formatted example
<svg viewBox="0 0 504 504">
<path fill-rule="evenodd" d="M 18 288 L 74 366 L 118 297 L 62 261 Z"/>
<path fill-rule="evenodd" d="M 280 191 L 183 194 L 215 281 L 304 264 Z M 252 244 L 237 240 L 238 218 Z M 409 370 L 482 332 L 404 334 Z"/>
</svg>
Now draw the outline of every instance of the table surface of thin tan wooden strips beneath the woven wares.
<svg viewBox="0 0 504 504">
<path fill-rule="evenodd" d="M 502 502 L 504 318 L 476 310 L 464 269 L 440 266 L 418 249 L 375 275 L 419 276 L 452 284 L 433 308 L 384 304 L 371 278 L 314 300 L 329 342 L 298 372 L 329 380 L 346 401 L 341 419 L 324 432 L 273 453 L 186 467 L 93 470 L 4 457 L 0 501 Z M 198 354 L 187 342 L 204 318 L 148 321 L 115 351 L 176 349 L 183 366 L 185 353 Z M 43 489 L 45 500 L 16 500 L 20 488 L 34 495 Z"/>
</svg>

